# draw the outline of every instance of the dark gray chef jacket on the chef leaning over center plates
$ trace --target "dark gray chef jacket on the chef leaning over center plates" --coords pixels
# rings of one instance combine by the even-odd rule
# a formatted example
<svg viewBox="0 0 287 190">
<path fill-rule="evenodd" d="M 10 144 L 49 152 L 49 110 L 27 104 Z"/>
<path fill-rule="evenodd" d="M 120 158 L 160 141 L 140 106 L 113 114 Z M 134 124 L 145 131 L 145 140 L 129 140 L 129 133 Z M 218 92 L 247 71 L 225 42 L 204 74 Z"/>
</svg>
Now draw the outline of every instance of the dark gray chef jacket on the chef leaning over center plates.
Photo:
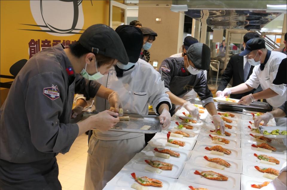
<svg viewBox="0 0 287 190">
<path fill-rule="evenodd" d="M 175 96 L 182 98 L 192 89 L 199 95 L 202 106 L 213 102 L 213 95 L 207 86 L 203 71 L 199 74 L 190 74 L 184 67 L 184 57 L 169 57 L 161 63 L 159 72 L 164 80 L 166 92 L 170 91 Z M 172 105 L 170 113 L 175 112 Z"/>
</svg>

